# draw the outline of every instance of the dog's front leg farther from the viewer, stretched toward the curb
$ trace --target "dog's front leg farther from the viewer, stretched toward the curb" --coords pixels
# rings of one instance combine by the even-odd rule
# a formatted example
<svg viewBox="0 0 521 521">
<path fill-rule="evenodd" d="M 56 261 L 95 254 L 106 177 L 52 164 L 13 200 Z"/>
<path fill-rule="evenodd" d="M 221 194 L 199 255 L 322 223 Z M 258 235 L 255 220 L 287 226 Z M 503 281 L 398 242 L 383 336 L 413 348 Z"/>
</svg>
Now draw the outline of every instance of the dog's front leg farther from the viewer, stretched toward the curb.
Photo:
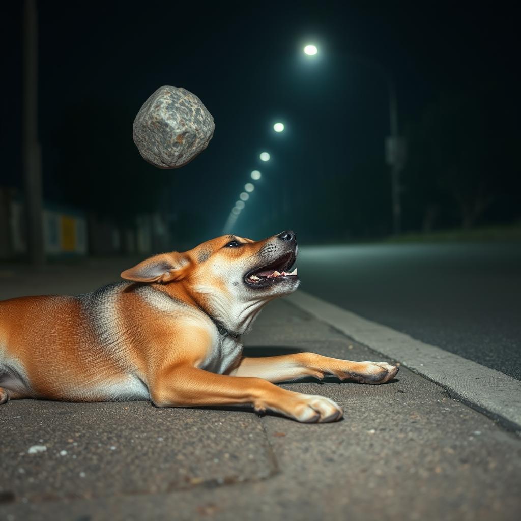
<svg viewBox="0 0 521 521">
<path fill-rule="evenodd" d="M 296 380 L 306 376 L 324 378 L 329 375 L 360 383 L 385 383 L 396 376 L 398 371 L 398 367 L 386 362 L 351 362 L 316 353 L 296 353 L 259 358 L 244 357 L 230 375 L 256 376 L 270 382 Z"/>
</svg>

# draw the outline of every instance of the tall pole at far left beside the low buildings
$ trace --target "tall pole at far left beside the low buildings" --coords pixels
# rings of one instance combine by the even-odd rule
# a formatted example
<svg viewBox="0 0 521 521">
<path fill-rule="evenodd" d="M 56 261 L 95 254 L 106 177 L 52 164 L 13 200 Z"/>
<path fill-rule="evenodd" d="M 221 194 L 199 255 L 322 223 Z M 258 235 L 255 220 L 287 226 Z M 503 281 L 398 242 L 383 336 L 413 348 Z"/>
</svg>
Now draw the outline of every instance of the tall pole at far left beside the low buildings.
<svg viewBox="0 0 521 521">
<path fill-rule="evenodd" d="M 23 9 L 23 177 L 27 249 L 31 264 L 45 261 L 42 227 L 42 161 L 38 142 L 38 14 L 36 0 Z"/>
</svg>

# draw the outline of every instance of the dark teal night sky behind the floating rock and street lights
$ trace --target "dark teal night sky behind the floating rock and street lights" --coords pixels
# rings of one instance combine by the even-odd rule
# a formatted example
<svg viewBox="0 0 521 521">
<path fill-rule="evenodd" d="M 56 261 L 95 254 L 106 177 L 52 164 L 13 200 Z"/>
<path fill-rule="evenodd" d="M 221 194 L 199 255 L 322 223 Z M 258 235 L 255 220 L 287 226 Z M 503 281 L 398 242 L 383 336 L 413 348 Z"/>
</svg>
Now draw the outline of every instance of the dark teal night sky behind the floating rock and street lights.
<svg viewBox="0 0 521 521">
<path fill-rule="evenodd" d="M 1 8 L 0 184 L 11 185 L 21 185 L 21 5 L 3 2 Z M 63 172 L 71 180 L 78 170 L 85 177 L 80 167 L 88 163 L 98 170 L 92 179 L 104 211 L 107 200 L 121 197 L 118 187 L 130 183 L 142 199 L 129 204 L 186 213 L 197 239 L 220 232 L 257 168 L 264 174 L 262 184 L 237 222 L 238 233 L 261 233 L 264 223 L 313 228 L 318 238 L 322 228 L 342 219 L 339 206 L 361 197 L 366 210 L 360 203 L 359 215 L 350 218 L 374 221 L 373 233 L 386 231 L 386 85 L 350 56 L 377 60 L 392 72 L 404 132 L 444 93 L 472 93 L 477 85 L 492 83 L 494 96 L 513 99 L 518 89 L 517 17 L 507 4 L 487 9 L 443 2 L 38 5 L 45 198 L 76 201 L 72 196 L 69 201 L 74 182 L 64 184 Z M 308 42 L 319 47 L 319 59 L 303 58 Z M 199 96 L 216 131 L 193 163 L 157 172 L 132 143 L 132 120 L 164 84 Z M 277 120 L 286 124 L 281 135 L 272 131 Z M 268 165 L 258 160 L 262 150 L 272 155 Z M 100 182 L 108 177 L 113 182 Z M 375 194 L 369 195 L 373 184 Z M 149 190 L 141 190 L 145 186 Z M 96 197 L 89 202 L 94 209 Z"/>
</svg>

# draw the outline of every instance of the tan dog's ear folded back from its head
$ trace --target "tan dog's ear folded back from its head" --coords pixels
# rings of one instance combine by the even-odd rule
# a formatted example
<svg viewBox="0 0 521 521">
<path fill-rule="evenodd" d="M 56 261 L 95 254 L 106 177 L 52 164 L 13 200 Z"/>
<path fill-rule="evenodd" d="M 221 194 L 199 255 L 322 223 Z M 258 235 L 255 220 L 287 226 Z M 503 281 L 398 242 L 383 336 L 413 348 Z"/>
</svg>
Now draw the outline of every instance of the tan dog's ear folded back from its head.
<svg viewBox="0 0 521 521">
<path fill-rule="evenodd" d="M 122 272 L 121 278 L 134 282 L 173 282 L 188 272 L 190 259 L 178 252 L 162 253 L 150 257 L 133 268 Z"/>
</svg>

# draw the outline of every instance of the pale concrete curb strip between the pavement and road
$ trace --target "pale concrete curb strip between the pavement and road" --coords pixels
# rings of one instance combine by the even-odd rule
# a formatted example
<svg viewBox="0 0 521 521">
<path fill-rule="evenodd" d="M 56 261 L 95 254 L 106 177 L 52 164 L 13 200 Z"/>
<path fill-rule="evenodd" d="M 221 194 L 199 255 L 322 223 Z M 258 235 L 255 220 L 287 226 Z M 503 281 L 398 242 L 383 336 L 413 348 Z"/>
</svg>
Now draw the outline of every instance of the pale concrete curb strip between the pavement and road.
<svg viewBox="0 0 521 521">
<path fill-rule="evenodd" d="M 359 317 L 303 291 L 286 297 L 316 318 L 445 388 L 453 398 L 521 434 L 521 381 Z"/>
</svg>

